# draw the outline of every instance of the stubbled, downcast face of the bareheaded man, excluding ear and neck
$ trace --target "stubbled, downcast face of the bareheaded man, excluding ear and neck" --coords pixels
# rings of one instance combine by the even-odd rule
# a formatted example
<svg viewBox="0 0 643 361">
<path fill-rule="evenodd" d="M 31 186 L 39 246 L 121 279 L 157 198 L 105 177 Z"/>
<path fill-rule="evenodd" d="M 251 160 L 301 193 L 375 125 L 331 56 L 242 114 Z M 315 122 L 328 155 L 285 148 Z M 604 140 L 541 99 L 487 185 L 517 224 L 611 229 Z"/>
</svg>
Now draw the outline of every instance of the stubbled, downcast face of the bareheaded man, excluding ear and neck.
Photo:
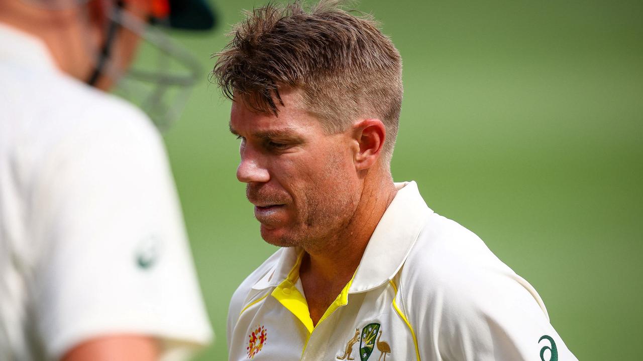
<svg viewBox="0 0 643 361">
<path fill-rule="evenodd" d="M 278 116 L 234 101 L 230 130 L 241 139 L 237 179 L 248 184 L 261 236 L 280 247 L 323 249 L 349 224 L 361 181 L 351 129 L 326 134 L 296 91 L 281 94 Z"/>
</svg>

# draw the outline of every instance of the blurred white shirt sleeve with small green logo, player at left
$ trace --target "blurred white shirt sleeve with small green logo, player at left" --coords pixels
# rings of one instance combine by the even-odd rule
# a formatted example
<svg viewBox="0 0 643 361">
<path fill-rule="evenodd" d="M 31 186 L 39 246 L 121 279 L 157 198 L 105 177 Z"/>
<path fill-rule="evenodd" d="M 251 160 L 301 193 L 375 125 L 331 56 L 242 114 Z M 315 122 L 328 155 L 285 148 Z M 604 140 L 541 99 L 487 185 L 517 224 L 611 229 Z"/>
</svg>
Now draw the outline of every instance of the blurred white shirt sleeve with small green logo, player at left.
<svg viewBox="0 0 643 361">
<path fill-rule="evenodd" d="M 35 191 L 37 331 L 53 359 L 131 333 L 183 360 L 213 335 L 165 148 L 143 114 L 107 115 L 57 146 Z"/>
</svg>

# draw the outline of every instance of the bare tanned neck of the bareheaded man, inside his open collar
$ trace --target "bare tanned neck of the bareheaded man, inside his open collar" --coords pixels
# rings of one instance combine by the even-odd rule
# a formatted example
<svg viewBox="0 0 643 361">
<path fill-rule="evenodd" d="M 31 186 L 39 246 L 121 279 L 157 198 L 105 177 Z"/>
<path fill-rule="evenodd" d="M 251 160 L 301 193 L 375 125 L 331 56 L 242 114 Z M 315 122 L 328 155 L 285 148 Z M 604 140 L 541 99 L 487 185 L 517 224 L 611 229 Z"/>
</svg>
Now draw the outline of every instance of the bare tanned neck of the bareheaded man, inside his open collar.
<svg viewBox="0 0 643 361">
<path fill-rule="evenodd" d="M 329 249 L 305 250 L 300 277 L 311 319 L 317 324 L 328 306 L 352 279 L 386 208 L 397 189 L 390 174 L 365 180 L 358 207 Z"/>
</svg>

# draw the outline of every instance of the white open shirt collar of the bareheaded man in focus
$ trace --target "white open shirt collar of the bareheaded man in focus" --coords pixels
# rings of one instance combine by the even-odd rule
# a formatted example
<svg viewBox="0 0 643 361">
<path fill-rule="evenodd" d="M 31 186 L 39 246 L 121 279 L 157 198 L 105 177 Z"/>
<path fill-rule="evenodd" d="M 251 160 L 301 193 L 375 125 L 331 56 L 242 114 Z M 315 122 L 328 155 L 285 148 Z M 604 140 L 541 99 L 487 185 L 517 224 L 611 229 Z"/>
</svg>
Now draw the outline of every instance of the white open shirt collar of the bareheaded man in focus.
<svg viewBox="0 0 643 361">
<path fill-rule="evenodd" d="M 395 187 L 397 194 L 368 241 L 349 294 L 372 290 L 393 279 L 417 240 L 427 216 L 433 213 L 426 206 L 415 182 L 395 183 Z M 275 254 L 275 266 L 252 288 L 262 290 L 279 285 L 298 263 L 301 253 L 299 247 L 280 249 Z"/>
</svg>

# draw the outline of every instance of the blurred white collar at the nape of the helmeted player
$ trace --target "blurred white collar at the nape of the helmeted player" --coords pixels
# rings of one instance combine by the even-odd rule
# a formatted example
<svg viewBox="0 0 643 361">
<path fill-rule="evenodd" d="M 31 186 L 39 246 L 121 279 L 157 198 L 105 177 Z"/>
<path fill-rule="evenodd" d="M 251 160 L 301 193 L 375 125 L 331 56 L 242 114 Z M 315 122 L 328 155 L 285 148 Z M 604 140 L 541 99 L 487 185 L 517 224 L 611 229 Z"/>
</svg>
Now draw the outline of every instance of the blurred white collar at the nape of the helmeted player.
<svg viewBox="0 0 643 361">
<path fill-rule="evenodd" d="M 0 62 L 46 70 L 58 69 L 41 39 L 3 22 L 0 22 L 0 44 Z"/>
</svg>

